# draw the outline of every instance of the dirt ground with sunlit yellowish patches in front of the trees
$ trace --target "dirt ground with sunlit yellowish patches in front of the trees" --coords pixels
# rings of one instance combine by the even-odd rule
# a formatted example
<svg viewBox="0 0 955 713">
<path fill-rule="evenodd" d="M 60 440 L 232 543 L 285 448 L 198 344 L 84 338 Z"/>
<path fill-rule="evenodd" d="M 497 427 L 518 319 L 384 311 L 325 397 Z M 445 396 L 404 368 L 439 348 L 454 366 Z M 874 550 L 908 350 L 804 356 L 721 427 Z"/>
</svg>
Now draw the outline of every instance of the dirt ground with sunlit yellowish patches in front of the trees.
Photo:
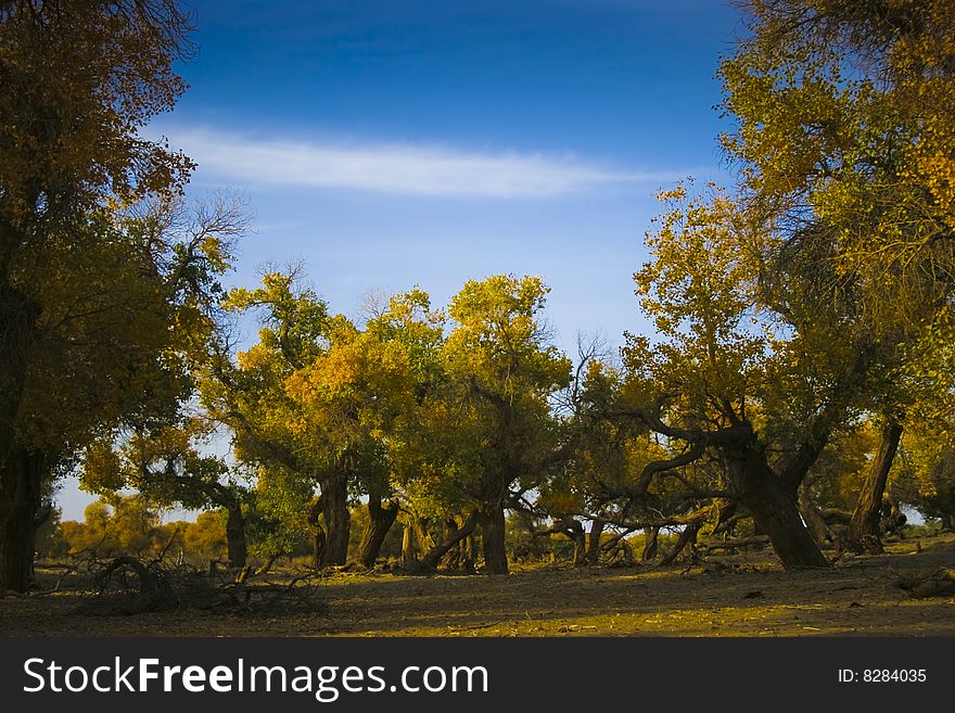
<svg viewBox="0 0 955 713">
<path fill-rule="evenodd" d="M 3 636 L 955 636 L 955 597 L 901 576 L 955 566 L 955 535 L 890 545 L 828 571 L 782 572 L 771 552 L 670 568 L 521 568 L 508 576 L 338 573 L 324 614 L 177 610 L 79 614 L 69 595 L 0 599 Z"/>
</svg>

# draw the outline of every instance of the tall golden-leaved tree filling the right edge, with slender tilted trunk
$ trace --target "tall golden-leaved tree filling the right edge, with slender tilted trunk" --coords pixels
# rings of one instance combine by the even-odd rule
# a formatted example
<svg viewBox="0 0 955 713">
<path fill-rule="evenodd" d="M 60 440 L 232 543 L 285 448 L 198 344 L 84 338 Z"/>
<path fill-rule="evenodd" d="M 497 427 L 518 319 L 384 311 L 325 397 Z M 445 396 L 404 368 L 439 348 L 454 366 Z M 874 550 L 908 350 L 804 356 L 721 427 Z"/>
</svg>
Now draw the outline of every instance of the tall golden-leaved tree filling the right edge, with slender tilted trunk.
<svg viewBox="0 0 955 713">
<path fill-rule="evenodd" d="M 882 443 L 852 524 L 871 539 L 906 408 L 942 417 L 953 393 L 955 21 L 946 0 L 742 5 L 751 33 L 721 76 L 747 205 L 771 250 L 825 263 L 900 352 L 874 394 Z"/>
</svg>

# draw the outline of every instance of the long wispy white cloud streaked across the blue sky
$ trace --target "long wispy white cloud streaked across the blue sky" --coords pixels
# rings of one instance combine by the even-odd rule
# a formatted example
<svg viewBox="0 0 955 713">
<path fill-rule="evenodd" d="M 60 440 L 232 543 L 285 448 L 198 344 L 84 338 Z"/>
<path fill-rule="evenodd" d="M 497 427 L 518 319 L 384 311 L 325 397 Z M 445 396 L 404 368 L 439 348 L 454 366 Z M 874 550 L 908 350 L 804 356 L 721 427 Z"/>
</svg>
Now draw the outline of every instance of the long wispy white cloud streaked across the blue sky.
<svg viewBox="0 0 955 713">
<path fill-rule="evenodd" d="M 242 186 L 351 189 L 405 195 L 538 199 L 685 174 L 627 173 L 571 155 L 484 153 L 396 143 L 267 141 L 189 129 L 169 132 L 201 175 Z"/>
</svg>

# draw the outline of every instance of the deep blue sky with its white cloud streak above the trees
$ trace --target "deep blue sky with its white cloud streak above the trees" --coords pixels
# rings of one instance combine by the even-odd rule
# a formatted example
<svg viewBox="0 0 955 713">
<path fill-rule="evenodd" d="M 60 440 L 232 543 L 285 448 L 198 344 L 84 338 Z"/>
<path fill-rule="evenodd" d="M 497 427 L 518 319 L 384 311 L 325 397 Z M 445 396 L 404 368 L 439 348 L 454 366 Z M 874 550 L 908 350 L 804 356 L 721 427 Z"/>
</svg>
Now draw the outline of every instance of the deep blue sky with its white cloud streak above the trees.
<svg viewBox="0 0 955 713">
<path fill-rule="evenodd" d="M 241 192 L 233 283 L 302 260 L 332 309 L 420 284 L 540 275 L 547 319 L 622 342 L 653 195 L 718 179 L 723 0 L 191 0 L 190 89 L 148 128 Z M 64 483 L 64 519 L 90 498 Z"/>
</svg>

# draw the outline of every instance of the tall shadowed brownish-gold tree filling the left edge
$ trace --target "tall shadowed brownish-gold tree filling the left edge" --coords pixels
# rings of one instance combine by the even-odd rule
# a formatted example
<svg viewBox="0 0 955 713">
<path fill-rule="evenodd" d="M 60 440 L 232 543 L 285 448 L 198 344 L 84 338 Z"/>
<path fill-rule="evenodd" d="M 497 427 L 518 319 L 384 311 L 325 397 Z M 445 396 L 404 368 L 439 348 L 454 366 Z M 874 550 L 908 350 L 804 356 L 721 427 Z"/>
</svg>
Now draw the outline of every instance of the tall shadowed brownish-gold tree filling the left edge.
<svg viewBox="0 0 955 713">
<path fill-rule="evenodd" d="M 188 25 L 173 0 L 0 4 L 0 589 L 29 584 L 54 466 L 177 391 L 173 265 L 203 250 L 177 254 L 117 207 L 190 169 L 138 135 L 183 89 Z"/>
</svg>

